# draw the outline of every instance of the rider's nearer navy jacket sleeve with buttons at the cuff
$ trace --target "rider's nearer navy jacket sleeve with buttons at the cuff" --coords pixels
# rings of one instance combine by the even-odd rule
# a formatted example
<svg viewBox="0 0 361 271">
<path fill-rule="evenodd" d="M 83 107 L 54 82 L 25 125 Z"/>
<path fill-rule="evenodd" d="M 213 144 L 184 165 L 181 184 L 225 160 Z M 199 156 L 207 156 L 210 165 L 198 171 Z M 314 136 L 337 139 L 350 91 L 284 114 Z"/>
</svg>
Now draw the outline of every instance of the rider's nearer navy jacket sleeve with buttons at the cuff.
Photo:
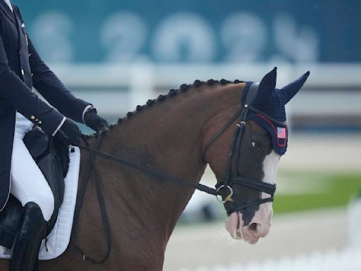
<svg viewBox="0 0 361 271">
<path fill-rule="evenodd" d="M 0 96 L 46 133 L 53 134 L 64 117 L 43 102 L 8 66 L 8 58 L 0 35 Z"/>
</svg>

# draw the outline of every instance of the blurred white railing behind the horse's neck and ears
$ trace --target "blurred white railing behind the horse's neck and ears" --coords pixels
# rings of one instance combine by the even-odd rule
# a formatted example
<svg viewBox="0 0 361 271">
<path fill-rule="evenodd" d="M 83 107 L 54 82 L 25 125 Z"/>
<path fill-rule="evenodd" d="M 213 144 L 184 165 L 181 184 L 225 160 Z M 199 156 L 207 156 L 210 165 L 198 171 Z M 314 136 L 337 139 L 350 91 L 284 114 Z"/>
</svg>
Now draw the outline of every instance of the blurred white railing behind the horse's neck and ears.
<svg viewBox="0 0 361 271">
<path fill-rule="evenodd" d="M 259 81 L 274 64 L 155 65 L 86 64 L 52 66 L 68 88 L 76 95 L 93 102 L 99 112 L 119 116 L 133 111 L 160 93 L 179 88 L 195 79 Z M 288 114 L 302 116 L 361 116 L 361 65 L 279 64 L 277 86 L 281 87 L 311 71 L 305 88 L 288 106 Z"/>
</svg>

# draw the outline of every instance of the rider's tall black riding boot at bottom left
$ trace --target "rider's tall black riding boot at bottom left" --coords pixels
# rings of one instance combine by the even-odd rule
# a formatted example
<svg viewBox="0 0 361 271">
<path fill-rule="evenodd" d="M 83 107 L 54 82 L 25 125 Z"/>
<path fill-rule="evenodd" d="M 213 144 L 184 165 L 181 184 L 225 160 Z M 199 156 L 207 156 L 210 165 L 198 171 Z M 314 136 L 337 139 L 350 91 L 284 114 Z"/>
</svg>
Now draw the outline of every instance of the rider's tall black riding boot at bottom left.
<svg viewBox="0 0 361 271">
<path fill-rule="evenodd" d="M 34 271 L 37 266 L 39 248 L 47 229 L 42 210 L 36 203 L 24 207 L 18 234 L 11 251 L 10 271 Z"/>
</svg>

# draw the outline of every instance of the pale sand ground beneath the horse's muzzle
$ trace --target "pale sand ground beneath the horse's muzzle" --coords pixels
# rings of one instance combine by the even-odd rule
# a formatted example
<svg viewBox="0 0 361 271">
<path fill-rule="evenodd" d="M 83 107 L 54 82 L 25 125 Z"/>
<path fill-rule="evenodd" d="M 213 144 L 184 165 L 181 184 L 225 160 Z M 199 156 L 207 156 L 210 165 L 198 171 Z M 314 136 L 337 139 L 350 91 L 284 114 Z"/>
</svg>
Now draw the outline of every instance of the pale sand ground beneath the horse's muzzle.
<svg viewBox="0 0 361 271">
<path fill-rule="evenodd" d="M 269 236 L 255 246 L 231 239 L 224 223 L 181 226 L 166 250 L 165 271 L 279 259 L 347 246 L 347 210 L 319 210 L 274 217 Z"/>
</svg>

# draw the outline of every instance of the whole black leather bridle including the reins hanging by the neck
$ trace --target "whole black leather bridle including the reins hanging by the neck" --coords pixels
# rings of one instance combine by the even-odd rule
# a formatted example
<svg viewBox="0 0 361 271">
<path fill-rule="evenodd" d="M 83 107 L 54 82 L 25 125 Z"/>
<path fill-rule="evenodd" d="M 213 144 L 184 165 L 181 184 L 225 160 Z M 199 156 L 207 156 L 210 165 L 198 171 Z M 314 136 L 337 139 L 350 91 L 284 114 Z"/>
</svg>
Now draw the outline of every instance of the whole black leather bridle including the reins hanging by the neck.
<svg viewBox="0 0 361 271">
<path fill-rule="evenodd" d="M 85 142 L 85 146 L 79 146 L 80 149 L 86 150 L 90 153 L 89 162 L 87 164 L 87 167 L 85 168 L 85 174 L 82 177 L 82 181 L 80 182 L 81 186 L 78 191 L 78 198 L 77 203 L 75 206 L 75 215 L 74 215 L 74 223 L 73 223 L 73 233 L 72 235 L 75 235 L 75 229 L 76 224 L 78 222 L 78 218 L 80 215 L 80 210 L 82 207 L 82 202 L 84 200 L 85 191 L 87 188 L 87 183 L 90 180 L 90 176 L 92 174 L 92 171 L 94 169 L 94 163 L 96 157 L 102 157 L 103 159 L 108 159 L 110 161 L 116 162 L 118 164 L 123 164 L 126 167 L 131 167 L 133 169 L 137 169 L 139 171 L 142 171 L 143 173 L 147 174 L 148 176 L 156 177 L 159 179 L 164 179 L 168 181 L 173 181 L 175 183 L 181 184 L 183 186 L 188 186 L 191 188 L 195 188 L 199 191 L 203 191 L 205 193 L 215 195 L 217 200 L 219 202 L 224 203 L 224 207 L 226 209 L 226 212 L 228 215 L 231 215 L 232 212 L 238 212 L 240 210 L 243 210 L 247 207 L 251 207 L 254 205 L 260 205 L 262 203 L 271 202 L 274 200 L 274 193 L 276 191 L 276 184 L 271 183 L 265 183 L 263 181 L 259 181 L 256 179 L 247 178 L 245 176 L 239 176 L 237 171 L 238 162 L 240 160 L 240 145 L 243 140 L 243 135 L 245 133 L 245 126 L 247 122 L 247 114 L 250 110 L 253 112 L 257 112 L 259 114 L 263 114 L 258 109 L 250 106 L 249 104 L 252 103 L 253 98 L 255 97 L 257 90 L 258 90 L 258 83 L 253 83 L 250 86 L 250 89 L 248 90 L 246 102 L 245 105 L 238 110 L 238 112 L 231 117 L 231 119 L 209 140 L 209 142 L 204 146 L 203 150 L 203 158 L 205 160 L 205 155 L 207 153 L 207 150 L 209 150 L 209 147 L 213 145 L 213 143 L 228 129 L 229 126 L 231 126 L 234 121 L 236 121 L 238 118 L 240 119 L 239 123 L 236 124 L 234 134 L 233 134 L 233 140 L 231 143 L 231 150 L 228 153 L 228 162 L 226 166 L 226 171 L 224 174 L 224 177 L 222 178 L 222 181 L 219 183 L 216 183 L 216 189 L 210 188 L 209 186 L 204 186 L 201 183 L 194 183 L 193 181 L 188 181 L 184 179 L 178 179 L 174 176 L 169 176 L 168 174 L 164 174 L 161 171 L 158 171 L 157 169 L 152 169 L 146 166 L 143 166 L 142 164 L 138 164 L 135 162 L 131 162 L 127 159 L 123 159 L 122 157 L 115 157 L 114 155 L 109 155 L 108 153 L 100 151 L 100 147 L 102 146 L 102 138 L 105 135 L 105 132 L 98 133 L 97 134 L 97 143 L 96 148 L 90 147 L 89 143 L 87 142 L 87 139 L 85 135 L 82 135 L 82 139 Z M 267 116 L 266 114 L 263 114 L 264 116 Z M 269 116 L 267 116 L 269 118 Z M 269 118 L 271 119 L 271 118 Z M 272 121 L 276 121 L 272 119 Z M 279 121 L 276 121 L 279 122 Z M 99 209 L 101 211 L 102 215 L 102 222 L 103 226 L 106 232 L 106 254 L 102 258 L 102 260 L 94 260 L 93 258 L 90 258 L 89 256 L 85 255 L 85 253 L 82 251 L 80 247 L 78 248 L 78 251 L 82 254 L 83 260 L 89 260 L 91 263 L 95 264 L 101 264 L 104 263 L 108 258 L 111 251 L 111 230 L 109 225 L 109 219 L 108 215 L 106 213 L 106 206 L 104 203 L 104 197 L 102 195 L 102 188 L 101 188 L 101 176 L 97 174 L 97 171 L 94 172 L 96 176 L 96 191 L 97 191 L 97 198 L 99 203 Z M 233 201 L 233 188 L 232 186 L 245 186 L 247 188 L 252 188 L 256 191 L 264 192 L 270 195 L 269 198 L 259 198 L 257 200 L 253 200 L 250 203 L 243 203 L 240 205 L 237 205 Z M 226 191 L 229 191 L 229 193 L 225 193 Z M 221 198 L 219 198 L 221 197 Z"/>
</svg>

